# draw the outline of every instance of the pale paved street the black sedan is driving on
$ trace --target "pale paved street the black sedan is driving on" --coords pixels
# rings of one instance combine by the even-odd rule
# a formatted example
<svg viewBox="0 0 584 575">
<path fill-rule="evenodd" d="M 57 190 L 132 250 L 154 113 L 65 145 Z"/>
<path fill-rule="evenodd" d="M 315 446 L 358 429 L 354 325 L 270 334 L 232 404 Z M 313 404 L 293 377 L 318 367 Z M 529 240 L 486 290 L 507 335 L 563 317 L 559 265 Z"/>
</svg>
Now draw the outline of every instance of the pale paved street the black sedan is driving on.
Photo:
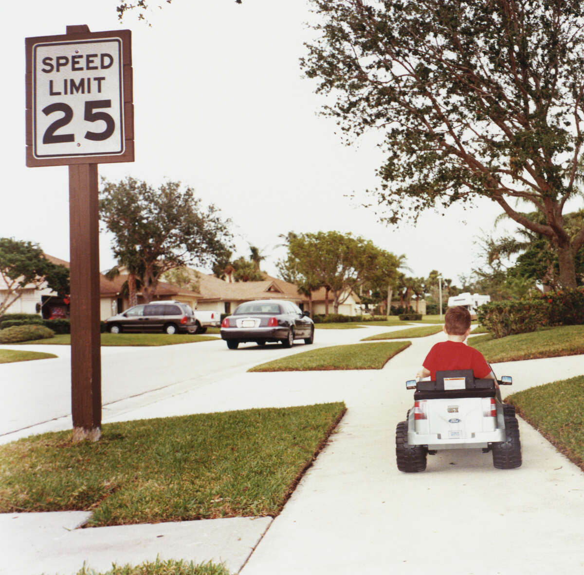
<svg viewBox="0 0 584 575">
<path fill-rule="evenodd" d="M 394 328 L 396 329 L 396 328 Z M 180 392 L 220 383 L 259 363 L 323 345 L 353 343 L 388 328 L 317 329 L 315 342 L 293 348 L 253 343 L 228 350 L 225 342 L 149 348 L 102 348 L 103 419 Z M 2 345 L 54 353 L 57 359 L 0 364 L 0 443 L 41 431 L 71 427 L 71 355 L 68 346 Z"/>
</svg>

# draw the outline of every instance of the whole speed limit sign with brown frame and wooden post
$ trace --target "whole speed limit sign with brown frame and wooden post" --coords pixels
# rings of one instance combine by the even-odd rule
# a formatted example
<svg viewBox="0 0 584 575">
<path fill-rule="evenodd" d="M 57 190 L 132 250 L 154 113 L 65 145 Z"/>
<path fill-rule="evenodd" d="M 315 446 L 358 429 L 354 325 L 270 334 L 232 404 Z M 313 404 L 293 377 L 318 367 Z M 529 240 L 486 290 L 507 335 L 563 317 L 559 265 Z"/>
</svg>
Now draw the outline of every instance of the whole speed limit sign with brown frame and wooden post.
<svg viewBox="0 0 584 575">
<path fill-rule="evenodd" d="M 134 161 L 130 30 L 26 38 L 26 165 L 69 166 L 73 439 L 101 435 L 98 163 Z"/>
</svg>

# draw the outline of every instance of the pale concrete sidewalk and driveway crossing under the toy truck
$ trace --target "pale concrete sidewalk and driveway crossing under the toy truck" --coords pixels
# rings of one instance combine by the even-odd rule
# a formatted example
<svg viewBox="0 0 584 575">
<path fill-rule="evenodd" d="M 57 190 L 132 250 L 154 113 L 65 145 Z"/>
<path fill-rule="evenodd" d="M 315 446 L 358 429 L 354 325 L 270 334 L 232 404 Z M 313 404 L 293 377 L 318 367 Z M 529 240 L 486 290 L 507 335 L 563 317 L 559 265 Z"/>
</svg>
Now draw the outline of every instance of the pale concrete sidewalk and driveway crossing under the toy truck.
<svg viewBox="0 0 584 575">
<path fill-rule="evenodd" d="M 157 555 L 225 562 L 242 575 L 584 572 L 584 474 L 525 423 L 519 469 L 493 468 L 491 454 L 449 451 L 429 457 L 422 474 L 397 471 L 395 425 L 412 402 L 404 382 L 440 338 L 413 340 L 380 371 L 242 373 L 128 406 L 111 420 L 329 401 L 345 401 L 348 411 L 273 521 L 74 530 L 84 514 L 5 514 L 0 573 L 71 575 L 84 561 L 106 570 Z M 512 392 L 582 374 L 584 357 L 499 364 L 495 371 L 513 376 L 503 390 Z"/>
</svg>

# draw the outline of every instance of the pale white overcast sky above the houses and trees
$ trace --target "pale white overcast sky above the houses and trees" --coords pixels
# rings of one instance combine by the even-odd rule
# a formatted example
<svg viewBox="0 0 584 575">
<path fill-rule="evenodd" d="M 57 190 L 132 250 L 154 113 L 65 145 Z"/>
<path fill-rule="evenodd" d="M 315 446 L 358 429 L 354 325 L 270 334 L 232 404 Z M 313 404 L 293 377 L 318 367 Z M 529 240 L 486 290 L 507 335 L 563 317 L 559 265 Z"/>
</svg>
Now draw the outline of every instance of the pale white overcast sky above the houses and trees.
<svg viewBox="0 0 584 575">
<path fill-rule="evenodd" d="M 290 231 L 351 232 L 406 255 L 408 275 L 432 269 L 457 283 L 481 264 L 475 240 L 491 233 L 500 208 L 483 199 L 445 216 L 420 215 L 417 225 L 387 227 L 361 206 L 379 181 L 379 134 L 344 146 L 336 125 L 319 114 L 325 103 L 302 77 L 303 43 L 314 37 L 305 0 L 162 0 L 148 21 L 135 13 L 119 22 L 116 0 L 27 0 L 3 6 L 0 37 L 4 192 L 0 236 L 40 244 L 69 259 L 68 169 L 25 165 L 25 38 L 64 34 L 67 25 L 92 32 L 132 33 L 135 162 L 99 164 L 99 176 L 133 176 L 158 187 L 192 187 L 203 204 L 232 220 L 235 257 L 260 249 L 262 269 L 276 275 Z M 159 5 L 161 5 L 159 7 Z M 512 229 L 510 226 L 509 229 Z M 505 232 L 502 226 L 497 232 Z M 116 261 L 111 237 L 100 233 L 100 269 Z"/>
</svg>

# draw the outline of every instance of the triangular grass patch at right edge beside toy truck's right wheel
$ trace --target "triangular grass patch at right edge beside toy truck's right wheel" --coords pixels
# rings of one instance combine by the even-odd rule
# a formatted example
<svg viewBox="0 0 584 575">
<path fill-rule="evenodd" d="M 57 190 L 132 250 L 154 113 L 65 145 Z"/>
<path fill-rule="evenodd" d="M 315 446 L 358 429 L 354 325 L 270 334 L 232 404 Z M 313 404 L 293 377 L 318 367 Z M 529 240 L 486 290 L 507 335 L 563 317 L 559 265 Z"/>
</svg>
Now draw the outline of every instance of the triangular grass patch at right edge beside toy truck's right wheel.
<svg viewBox="0 0 584 575">
<path fill-rule="evenodd" d="M 584 376 L 518 391 L 506 401 L 584 471 Z"/>
</svg>

